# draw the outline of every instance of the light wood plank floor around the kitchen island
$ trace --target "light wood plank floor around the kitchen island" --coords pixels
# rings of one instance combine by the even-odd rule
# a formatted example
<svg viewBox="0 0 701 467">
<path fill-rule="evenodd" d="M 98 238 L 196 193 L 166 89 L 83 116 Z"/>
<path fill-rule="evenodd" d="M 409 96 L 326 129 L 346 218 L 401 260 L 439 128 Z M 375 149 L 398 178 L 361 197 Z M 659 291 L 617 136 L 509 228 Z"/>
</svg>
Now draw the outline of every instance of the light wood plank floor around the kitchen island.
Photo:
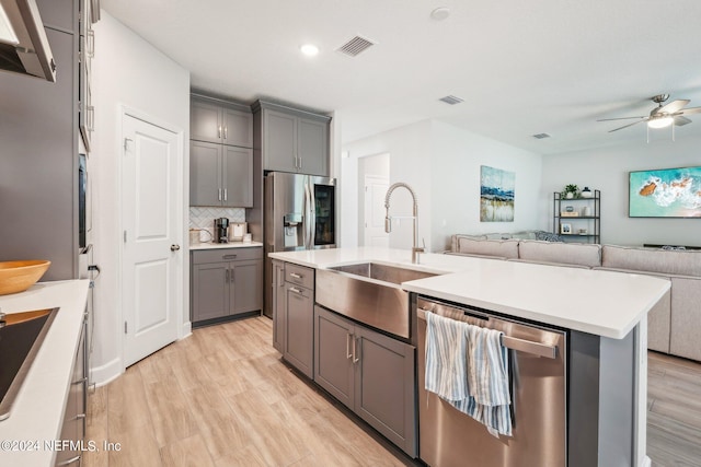
<svg viewBox="0 0 701 467">
<path fill-rule="evenodd" d="M 256 317 L 196 329 L 89 395 L 87 467 L 402 466 L 290 371 Z M 647 455 L 701 466 L 701 364 L 650 352 Z M 104 451 L 103 442 L 120 451 Z"/>
</svg>

